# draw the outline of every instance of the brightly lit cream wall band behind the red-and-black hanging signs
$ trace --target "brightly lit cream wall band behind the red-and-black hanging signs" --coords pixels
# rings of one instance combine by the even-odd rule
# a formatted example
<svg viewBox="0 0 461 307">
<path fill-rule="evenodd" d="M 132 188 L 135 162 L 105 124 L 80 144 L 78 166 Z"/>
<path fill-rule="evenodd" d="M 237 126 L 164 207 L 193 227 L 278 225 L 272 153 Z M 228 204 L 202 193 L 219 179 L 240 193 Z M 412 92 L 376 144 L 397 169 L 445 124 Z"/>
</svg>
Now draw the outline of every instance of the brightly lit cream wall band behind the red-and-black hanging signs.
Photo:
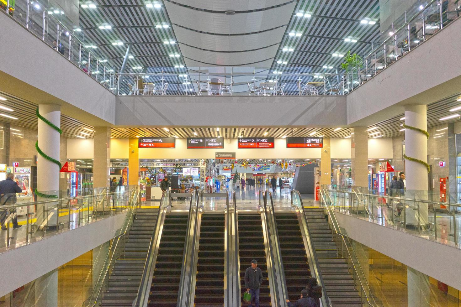
<svg viewBox="0 0 461 307">
<path fill-rule="evenodd" d="M 237 149 L 237 139 L 225 139 L 224 149 L 187 149 L 186 139 L 176 139 L 176 148 L 140 148 L 140 159 L 214 159 L 215 152 L 236 152 L 237 159 L 319 159 L 323 149 L 286 148 L 285 139 L 275 139 L 274 149 Z M 331 158 L 350 159 L 350 139 L 331 139 Z M 93 159 L 93 139 L 68 139 L 68 159 Z M 368 139 L 368 158 L 392 158 L 392 139 Z M 128 139 L 111 139 L 111 159 L 128 159 Z"/>
</svg>

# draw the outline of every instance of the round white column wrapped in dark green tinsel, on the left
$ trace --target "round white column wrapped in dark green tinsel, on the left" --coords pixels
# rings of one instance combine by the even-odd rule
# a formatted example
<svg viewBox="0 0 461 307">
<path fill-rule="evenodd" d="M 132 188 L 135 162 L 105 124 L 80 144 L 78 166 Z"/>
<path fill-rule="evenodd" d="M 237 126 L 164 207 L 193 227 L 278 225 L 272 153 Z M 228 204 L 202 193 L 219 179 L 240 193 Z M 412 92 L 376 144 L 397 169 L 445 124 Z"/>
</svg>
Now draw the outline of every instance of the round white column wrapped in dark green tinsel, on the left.
<svg viewBox="0 0 461 307">
<path fill-rule="evenodd" d="M 41 116 L 61 127 L 61 107 L 56 104 L 40 104 L 38 110 Z M 53 127 L 38 120 L 38 146 L 47 156 L 59 161 L 61 135 Z M 59 196 L 59 165 L 51 162 L 40 154 L 37 158 L 37 191 Z M 63 193 L 65 195 L 66 193 Z M 38 201 L 49 201 L 45 206 L 37 205 L 38 225 L 56 225 L 57 202 L 53 198 L 37 197 Z"/>
</svg>

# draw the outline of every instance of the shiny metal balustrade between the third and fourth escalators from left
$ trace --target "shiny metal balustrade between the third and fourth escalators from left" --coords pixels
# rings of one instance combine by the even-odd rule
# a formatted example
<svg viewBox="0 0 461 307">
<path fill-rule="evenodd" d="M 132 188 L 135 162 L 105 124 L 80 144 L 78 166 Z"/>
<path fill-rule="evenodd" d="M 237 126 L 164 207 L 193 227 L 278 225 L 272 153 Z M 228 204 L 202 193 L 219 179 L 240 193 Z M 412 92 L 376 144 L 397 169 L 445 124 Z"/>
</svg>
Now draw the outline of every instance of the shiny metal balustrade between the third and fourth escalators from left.
<svg viewBox="0 0 461 307">
<path fill-rule="evenodd" d="M 268 258 L 270 261 L 270 265 L 267 266 L 267 273 L 269 274 L 270 272 L 272 276 L 272 278 L 269 278 L 269 287 L 271 290 L 271 294 L 273 295 L 273 300 L 274 300 L 273 303 L 275 304 L 275 306 L 287 306 L 285 299 L 288 296 L 287 296 L 287 291 L 284 291 L 284 288 L 286 288 L 286 286 L 285 287 L 283 286 L 283 284 L 285 284 L 285 281 L 280 280 L 281 274 L 284 274 L 284 270 L 283 270 L 283 267 L 282 268 L 276 267 L 277 261 L 274 255 L 274 246 L 273 246 L 274 243 L 273 243 L 272 235 L 271 235 L 271 233 L 274 233 L 274 232 L 271 232 L 272 226 L 269 225 L 269 223 L 271 223 L 269 215 L 272 215 L 272 212 L 268 212 L 269 209 L 267 208 L 266 195 L 264 195 L 263 191 L 259 191 L 260 210 L 262 210 L 263 212 L 262 214 L 264 215 L 265 222 L 262 220 L 262 216 L 261 216 L 261 221 L 263 222 L 263 225 L 265 226 L 263 227 L 263 233 L 266 234 L 267 243 L 265 242 L 265 246 L 269 253 Z M 261 200 L 262 200 L 262 206 L 261 206 Z M 271 225 L 273 224 L 271 223 Z M 277 231 L 275 230 L 275 232 Z"/>
</svg>

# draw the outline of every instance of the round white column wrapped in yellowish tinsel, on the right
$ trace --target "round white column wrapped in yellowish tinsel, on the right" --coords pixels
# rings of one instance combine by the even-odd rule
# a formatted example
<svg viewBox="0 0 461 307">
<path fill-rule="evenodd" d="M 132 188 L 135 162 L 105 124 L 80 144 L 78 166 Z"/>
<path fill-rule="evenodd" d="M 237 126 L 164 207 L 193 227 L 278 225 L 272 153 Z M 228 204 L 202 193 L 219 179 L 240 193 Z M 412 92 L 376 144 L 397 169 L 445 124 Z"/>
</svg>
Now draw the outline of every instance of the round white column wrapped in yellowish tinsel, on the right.
<svg viewBox="0 0 461 307">
<path fill-rule="evenodd" d="M 405 124 L 427 131 L 427 106 L 424 104 L 410 104 L 405 106 Z M 427 137 L 425 134 L 411 129 L 405 129 L 405 154 L 418 160 L 427 162 Z M 427 199 L 427 168 L 419 162 L 405 160 L 406 192 L 409 198 Z M 416 190 L 416 191 L 413 191 Z M 407 224 L 427 224 L 428 208 L 421 204 L 409 204 L 405 209 Z"/>
</svg>

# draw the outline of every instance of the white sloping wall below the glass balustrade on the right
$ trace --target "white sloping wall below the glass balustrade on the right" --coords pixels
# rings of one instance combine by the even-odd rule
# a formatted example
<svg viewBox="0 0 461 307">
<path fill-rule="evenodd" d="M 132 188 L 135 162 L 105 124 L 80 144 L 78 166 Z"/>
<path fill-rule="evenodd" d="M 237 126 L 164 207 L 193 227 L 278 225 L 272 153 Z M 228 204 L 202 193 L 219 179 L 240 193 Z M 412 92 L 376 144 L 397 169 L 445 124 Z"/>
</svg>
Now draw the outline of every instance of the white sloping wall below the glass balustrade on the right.
<svg viewBox="0 0 461 307">
<path fill-rule="evenodd" d="M 460 289 L 461 249 L 426 240 L 366 220 L 335 212 L 337 221 L 349 237 L 396 261 Z M 379 238 L 379 239 L 377 239 Z M 442 261 L 439 261 L 442 260 Z"/>
</svg>

